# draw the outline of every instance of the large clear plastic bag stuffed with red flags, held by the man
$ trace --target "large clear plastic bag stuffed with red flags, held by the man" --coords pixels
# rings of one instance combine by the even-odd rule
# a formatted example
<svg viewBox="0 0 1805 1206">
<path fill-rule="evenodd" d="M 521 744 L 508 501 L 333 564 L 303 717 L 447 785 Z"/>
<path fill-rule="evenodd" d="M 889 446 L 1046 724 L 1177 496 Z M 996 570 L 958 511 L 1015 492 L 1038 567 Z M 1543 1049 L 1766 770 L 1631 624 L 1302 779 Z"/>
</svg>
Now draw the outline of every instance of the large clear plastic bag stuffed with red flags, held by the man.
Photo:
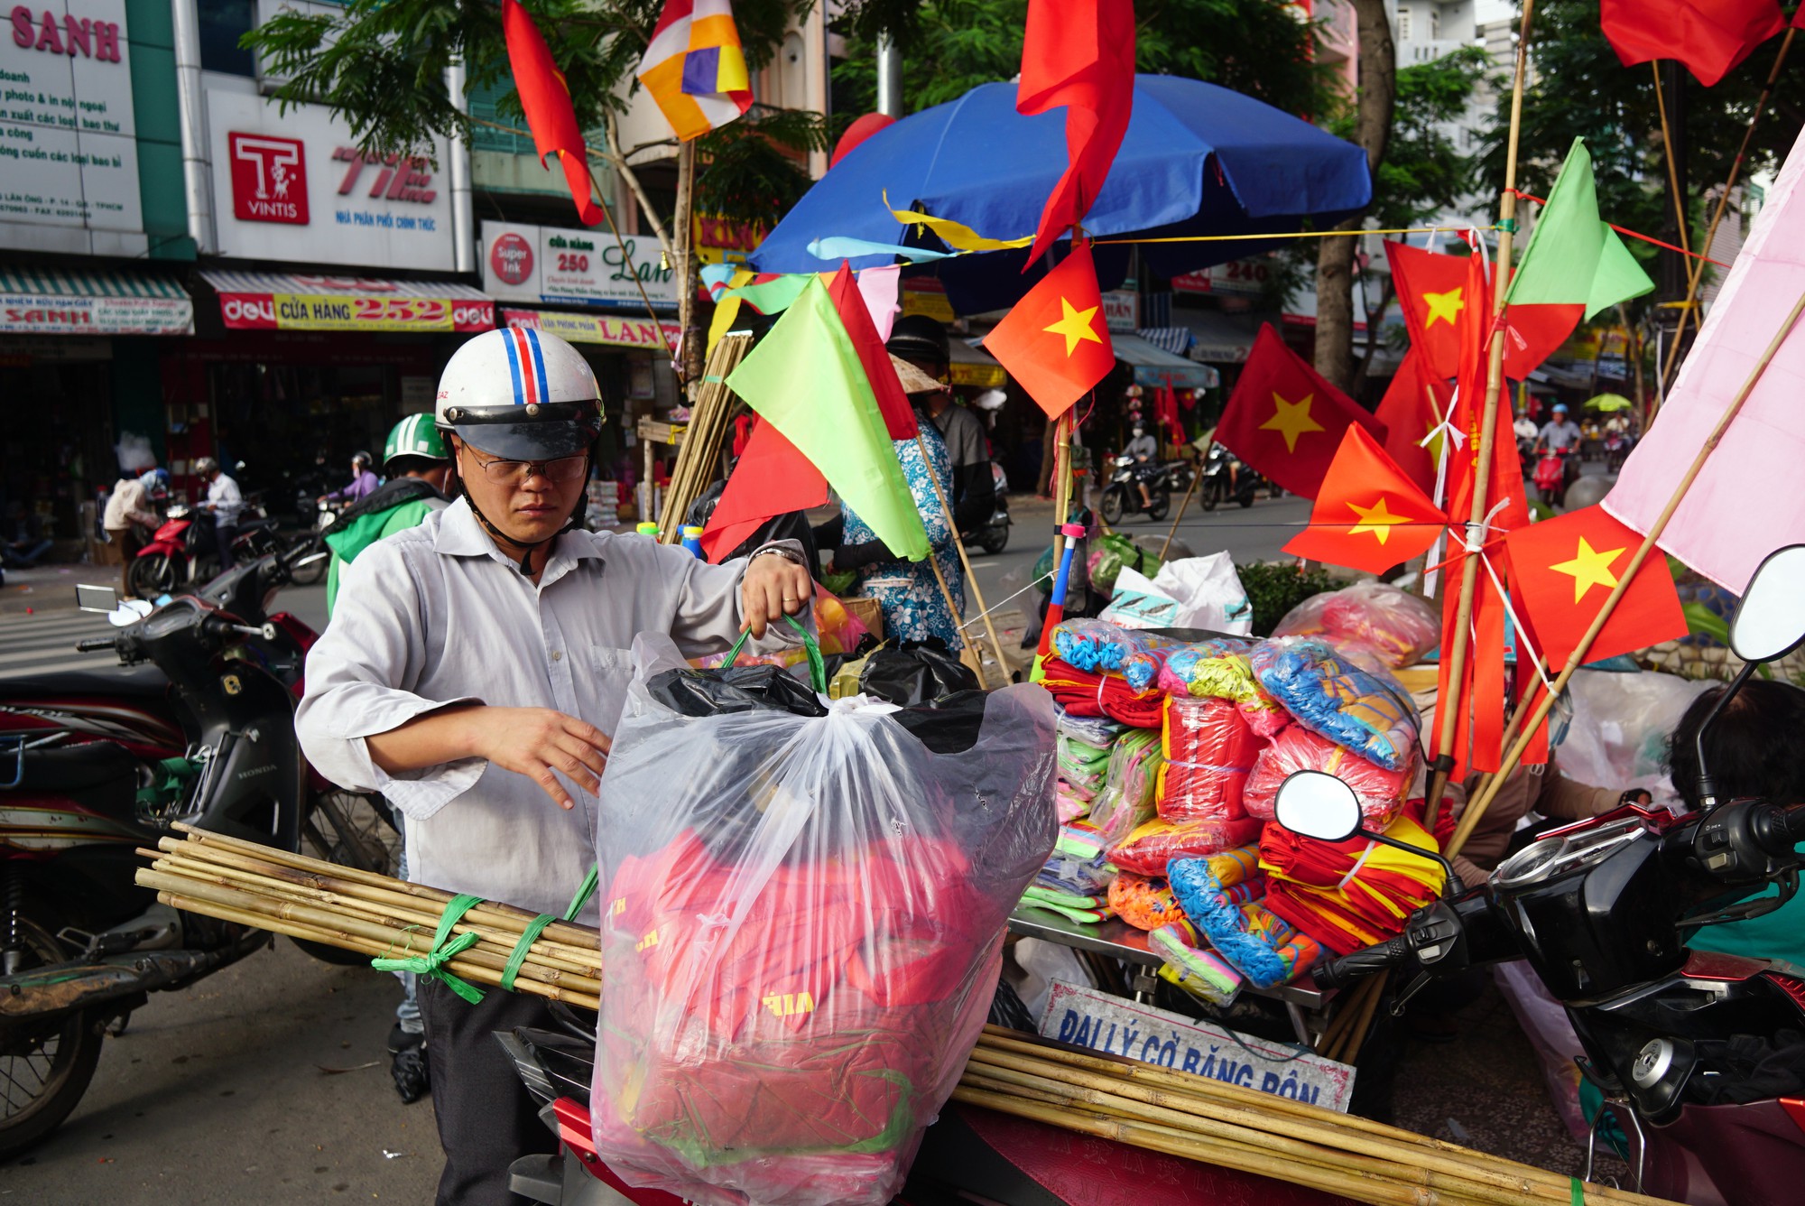
<svg viewBox="0 0 1805 1206">
<path fill-rule="evenodd" d="M 603 778 L 596 1148 L 711 1206 L 890 1201 L 984 1025 L 1052 850 L 1052 700 L 933 753 L 890 704 L 684 717 L 662 637 Z"/>
</svg>

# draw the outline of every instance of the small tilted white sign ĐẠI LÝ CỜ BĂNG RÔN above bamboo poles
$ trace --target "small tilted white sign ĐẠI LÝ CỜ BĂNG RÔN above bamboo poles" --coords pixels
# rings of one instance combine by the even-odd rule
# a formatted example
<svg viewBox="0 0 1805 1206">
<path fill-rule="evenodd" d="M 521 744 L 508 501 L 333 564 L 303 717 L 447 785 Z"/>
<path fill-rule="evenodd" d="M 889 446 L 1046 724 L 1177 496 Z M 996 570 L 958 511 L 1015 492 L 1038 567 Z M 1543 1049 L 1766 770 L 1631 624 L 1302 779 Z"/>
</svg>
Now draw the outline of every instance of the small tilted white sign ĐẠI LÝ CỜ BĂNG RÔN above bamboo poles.
<svg viewBox="0 0 1805 1206">
<path fill-rule="evenodd" d="M 1052 982 L 1040 1034 L 1343 1114 L 1354 1096 L 1347 1063 L 1063 980 Z"/>
</svg>

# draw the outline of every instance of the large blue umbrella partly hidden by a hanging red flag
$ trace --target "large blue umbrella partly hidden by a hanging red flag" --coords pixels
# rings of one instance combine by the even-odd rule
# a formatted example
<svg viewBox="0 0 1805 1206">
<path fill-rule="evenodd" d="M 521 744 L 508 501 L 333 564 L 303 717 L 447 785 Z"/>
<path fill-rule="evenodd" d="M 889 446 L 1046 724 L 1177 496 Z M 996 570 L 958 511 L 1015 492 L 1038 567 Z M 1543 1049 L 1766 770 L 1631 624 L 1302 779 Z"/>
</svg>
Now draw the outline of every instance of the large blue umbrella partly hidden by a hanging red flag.
<svg viewBox="0 0 1805 1206">
<path fill-rule="evenodd" d="M 762 273 L 832 267 L 809 244 L 852 237 L 946 251 L 931 233 L 890 217 L 919 209 L 989 238 L 1032 235 L 1065 172 L 1065 110 L 1023 117 L 1013 83 L 986 83 L 879 130 L 839 161 L 749 256 Z M 1179 76 L 1135 76 L 1134 116 L 1103 191 L 1085 218 L 1097 240 L 1177 235 L 1273 235 L 1305 218 L 1332 226 L 1372 200 L 1366 152 L 1229 88 Z M 1274 240 L 1144 242 L 1146 265 L 1177 276 L 1238 260 Z M 922 265 L 962 314 L 1014 303 L 1045 274 L 1022 273 L 1027 251 L 987 251 Z M 1121 283 L 1126 246 L 1097 247 L 1105 289 Z M 892 264 L 890 255 L 852 260 Z"/>
</svg>

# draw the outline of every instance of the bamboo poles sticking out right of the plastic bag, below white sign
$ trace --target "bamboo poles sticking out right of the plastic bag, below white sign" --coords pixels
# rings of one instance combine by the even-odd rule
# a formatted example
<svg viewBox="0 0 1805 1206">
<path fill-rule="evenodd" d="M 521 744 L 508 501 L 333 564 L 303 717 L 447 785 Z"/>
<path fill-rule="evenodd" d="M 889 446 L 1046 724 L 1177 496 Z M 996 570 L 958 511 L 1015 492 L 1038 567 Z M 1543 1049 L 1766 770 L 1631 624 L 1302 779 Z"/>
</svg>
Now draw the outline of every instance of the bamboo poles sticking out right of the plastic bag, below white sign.
<svg viewBox="0 0 1805 1206">
<path fill-rule="evenodd" d="M 955 1101 L 1375 1206 L 1653 1206 L 1350 1114 L 984 1027 Z M 1576 1188 L 1578 1186 L 1578 1188 Z"/>
</svg>

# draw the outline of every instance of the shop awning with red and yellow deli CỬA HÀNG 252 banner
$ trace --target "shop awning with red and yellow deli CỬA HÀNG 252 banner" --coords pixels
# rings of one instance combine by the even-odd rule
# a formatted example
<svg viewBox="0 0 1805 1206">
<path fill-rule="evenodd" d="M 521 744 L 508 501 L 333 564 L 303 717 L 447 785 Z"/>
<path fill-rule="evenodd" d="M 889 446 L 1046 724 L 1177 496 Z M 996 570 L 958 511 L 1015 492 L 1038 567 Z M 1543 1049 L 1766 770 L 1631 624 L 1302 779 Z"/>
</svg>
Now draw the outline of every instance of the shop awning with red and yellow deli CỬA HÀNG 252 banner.
<svg viewBox="0 0 1805 1206">
<path fill-rule="evenodd" d="M 495 302 L 440 280 L 202 271 L 233 330 L 489 330 Z"/>
</svg>

